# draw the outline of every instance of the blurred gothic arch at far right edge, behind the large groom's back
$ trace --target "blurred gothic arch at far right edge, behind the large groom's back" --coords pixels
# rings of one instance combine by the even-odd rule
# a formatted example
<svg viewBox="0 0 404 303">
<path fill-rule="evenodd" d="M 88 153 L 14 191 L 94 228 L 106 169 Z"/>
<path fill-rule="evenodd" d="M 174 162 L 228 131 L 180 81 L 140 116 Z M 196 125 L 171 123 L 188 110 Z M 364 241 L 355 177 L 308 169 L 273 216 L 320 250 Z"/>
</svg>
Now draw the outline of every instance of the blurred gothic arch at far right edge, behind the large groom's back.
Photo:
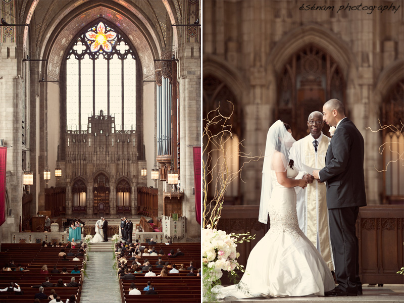
<svg viewBox="0 0 404 303">
<path fill-rule="evenodd" d="M 403 204 L 404 199 L 404 79 L 390 88 L 382 104 L 381 125 L 393 125 L 400 131 L 383 127 L 383 204 Z"/>
</svg>

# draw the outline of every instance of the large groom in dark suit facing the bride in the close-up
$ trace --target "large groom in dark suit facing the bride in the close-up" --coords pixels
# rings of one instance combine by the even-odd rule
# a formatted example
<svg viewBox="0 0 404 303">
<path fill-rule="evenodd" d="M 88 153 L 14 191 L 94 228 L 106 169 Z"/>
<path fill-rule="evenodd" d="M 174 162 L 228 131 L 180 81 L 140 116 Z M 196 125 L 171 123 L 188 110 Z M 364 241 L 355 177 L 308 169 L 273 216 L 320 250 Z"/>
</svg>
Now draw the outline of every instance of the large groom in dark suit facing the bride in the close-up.
<svg viewBox="0 0 404 303">
<path fill-rule="evenodd" d="M 327 207 L 330 223 L 335 277 L 339 284 L 326 296 L 362 294 L 359 278 L 358 238 L 355 224 L 359 207 L 366 206 L 364 140 L 337 99 L 323 106 L 323 120 L 336 127 L 325 157 L 325 167 L 313 171 L 319 182 L 327 181 Z"/>
</svg>

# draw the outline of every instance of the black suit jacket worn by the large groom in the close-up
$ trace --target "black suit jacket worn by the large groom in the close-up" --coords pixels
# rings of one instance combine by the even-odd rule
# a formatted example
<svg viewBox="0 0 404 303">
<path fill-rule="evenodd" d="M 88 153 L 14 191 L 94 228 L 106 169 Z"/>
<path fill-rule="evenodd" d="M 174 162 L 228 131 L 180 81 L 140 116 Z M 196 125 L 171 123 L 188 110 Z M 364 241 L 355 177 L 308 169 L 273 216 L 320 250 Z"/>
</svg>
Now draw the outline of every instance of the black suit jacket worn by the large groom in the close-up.
<svg viewBox="0 0 404 303">
<path fill-rule="evenodd" d="M 328 145 L 321 181 L 327 181 L 328 209 L 366 206 L 364 140 L 348 118 L 341 120 Z"/>
</svg>

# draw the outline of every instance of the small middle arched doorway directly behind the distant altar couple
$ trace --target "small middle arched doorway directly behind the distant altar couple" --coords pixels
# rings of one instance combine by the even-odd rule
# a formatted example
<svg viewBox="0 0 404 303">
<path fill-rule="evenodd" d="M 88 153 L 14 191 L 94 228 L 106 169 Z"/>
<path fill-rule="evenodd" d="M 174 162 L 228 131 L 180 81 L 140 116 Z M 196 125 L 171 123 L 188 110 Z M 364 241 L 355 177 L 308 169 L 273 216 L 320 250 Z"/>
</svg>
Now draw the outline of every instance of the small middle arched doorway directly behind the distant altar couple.
<svg viewBox="0 0 404 303">
<path fill-rule="evenodd" d="M 95 216 L 108 216 L 110 214 L 110 181 L 108 177 L 99 173 L 94 178 L 94 205 Z"/>
</svg>

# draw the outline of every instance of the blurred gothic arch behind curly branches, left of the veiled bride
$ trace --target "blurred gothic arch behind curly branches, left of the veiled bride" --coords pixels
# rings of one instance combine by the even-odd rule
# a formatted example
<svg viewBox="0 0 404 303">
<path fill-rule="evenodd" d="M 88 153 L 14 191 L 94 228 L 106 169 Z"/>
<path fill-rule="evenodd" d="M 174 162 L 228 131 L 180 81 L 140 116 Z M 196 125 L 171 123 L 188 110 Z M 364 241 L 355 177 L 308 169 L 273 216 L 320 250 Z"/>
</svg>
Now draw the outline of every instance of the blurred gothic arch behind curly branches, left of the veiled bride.
<svg viewBox="0 0 404 303">
<path fill-rule="evenodd" d="M 230 101 L 232 104 L 230 104 Z M 222 178 L 219 176 L 223 170 L 228 169 L 229 173 L 237 172 L 240 167 L 240 160 L 238 155 L 240 138 L 242 138 L 241 128 L 242 128 L 242 115 L 241 109 L 237 104 L 237 99 L 229 87 L 221 80 L 215 76 L 209 75 L 204 77 L 203 83 L 203 119 L 207 117 L 213 119 L 214 116 L 219 115 L 219 113 L 225 117 L 230 117 L 226 122 L 228 127 L 226 129 L 229 131 L 226 133 L 222 140 L 212 140 L 208 146 L 209 150 L 212 150 L 211 167 L 215 164 L 216 169 L 213 171 L 212 181 L 208 188 L 208 199 L 211 200 L 214 196 L 215 189 L 220 188 L 220 181 Z M 212 110 L 220 106 L 219 112 L 211 112 Z M 224 119 L 217 125 L 210 127 L 209 131 L 214 135 L 222 131 Z M 206 128 L 206 121 L 204 123 L 204 129 Z M 230 127 L 231 126 L 231 127 Z M 231 135 L 230 135 L 231 133 Z M 204 136 L 203 144 L 207 144 L 206 137 Z M 223 146 L 222 151 L 219 150 L 219 145 Z M 205 149 L 205 147 L 204 147 Z M 206 155 L 203 156 L 206 163 Z M 226 168 L 225 168 L 226 167 Z M 209 169 L 209 168 L 208 168 Z M 242 197 L 240 194 L 239 178 L 234 178 L 230 183 L 224 198 L 225 205 L 240 205 L 242 203 Z"/>
</svg>

